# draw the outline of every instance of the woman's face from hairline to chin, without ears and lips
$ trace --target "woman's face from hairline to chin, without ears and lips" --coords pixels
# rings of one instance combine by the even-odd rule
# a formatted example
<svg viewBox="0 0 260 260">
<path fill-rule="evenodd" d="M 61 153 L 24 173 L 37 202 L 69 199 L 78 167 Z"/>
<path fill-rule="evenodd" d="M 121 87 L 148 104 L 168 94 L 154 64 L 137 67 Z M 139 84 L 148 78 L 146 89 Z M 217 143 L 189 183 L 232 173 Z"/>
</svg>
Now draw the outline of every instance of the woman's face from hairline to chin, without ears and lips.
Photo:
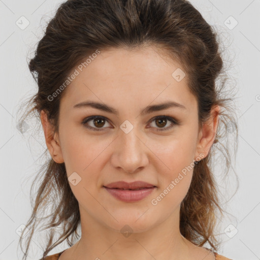
<svg viewBox="0 0 260 260">
<path fill-rule="evenodd" d="M 82 222 L 117 231 L 128 225 L 142 232 L 174 212 L 178 217 L 193 162 L 203 158 L 197 101 L 180 64 L 158 49 L 110 49 L 94 56 L 85 68 L 72 70 L 78 75 L 62 96 L 58 156 Z M 78 105 L 85 102 L 101 105 Z M 180 106 L 158 106 L 169 102 Z M 98 118 L 87 121 L 92 116 Z M 156 187 L 141 200 L 122 201 L 104 187 L 117 181 Z"/>
</svg>

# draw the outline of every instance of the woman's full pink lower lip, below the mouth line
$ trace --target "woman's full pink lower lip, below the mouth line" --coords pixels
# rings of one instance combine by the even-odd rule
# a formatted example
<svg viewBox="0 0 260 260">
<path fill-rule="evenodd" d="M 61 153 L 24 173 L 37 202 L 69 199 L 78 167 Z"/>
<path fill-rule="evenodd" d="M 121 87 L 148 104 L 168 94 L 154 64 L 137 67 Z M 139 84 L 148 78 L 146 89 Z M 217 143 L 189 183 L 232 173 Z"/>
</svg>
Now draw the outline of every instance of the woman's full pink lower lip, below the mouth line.
<svg viewBox="0 0 260 260">
<path fill-rule="evenodd" d="M 116 199 L 123 202 L 136 202 L 147 197 L 156 187 L 143 188 L 139 190 L 104 188 L 112 194 Z"/>
</svg>

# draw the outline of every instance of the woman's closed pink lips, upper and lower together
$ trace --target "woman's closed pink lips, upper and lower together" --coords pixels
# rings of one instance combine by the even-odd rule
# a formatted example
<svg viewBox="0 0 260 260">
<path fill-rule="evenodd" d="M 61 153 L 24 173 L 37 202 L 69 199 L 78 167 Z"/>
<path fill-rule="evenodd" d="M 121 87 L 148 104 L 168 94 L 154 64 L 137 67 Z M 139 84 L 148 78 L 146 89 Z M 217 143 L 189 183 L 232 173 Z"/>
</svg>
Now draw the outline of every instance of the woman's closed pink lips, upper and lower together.
<svg viewBox="0 0 260 260">
<path fill-rule="evenodd" d="M 146 198 L 157 187 L 143 181 L 131 183 L 118 181 L 110 183 L 104 186 L 104 188 L 117 200 L 123 202 L 137 202 Z M 139 190 L 133 190 L 137 188 L 139 188 Z"/>
</svg>

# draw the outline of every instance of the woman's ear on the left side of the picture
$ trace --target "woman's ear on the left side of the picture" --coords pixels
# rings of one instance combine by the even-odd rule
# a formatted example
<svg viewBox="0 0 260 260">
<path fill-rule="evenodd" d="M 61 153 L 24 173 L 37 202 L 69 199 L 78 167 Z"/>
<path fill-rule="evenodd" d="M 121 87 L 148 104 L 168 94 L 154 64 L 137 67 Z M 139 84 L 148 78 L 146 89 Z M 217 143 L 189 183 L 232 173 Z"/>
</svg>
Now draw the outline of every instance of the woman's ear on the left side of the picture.
<svg viewBox="0 0 260 260">
<path fill-rule="evenodd" d="M 54 126 L 48 121 L 47 114 L 41 111 L 41 122 L 43 126 L 45 142 L 52 159 L 58 163 L 64 163 L 60 142 L 57 133 L 54 134 Z"/>
</svg>

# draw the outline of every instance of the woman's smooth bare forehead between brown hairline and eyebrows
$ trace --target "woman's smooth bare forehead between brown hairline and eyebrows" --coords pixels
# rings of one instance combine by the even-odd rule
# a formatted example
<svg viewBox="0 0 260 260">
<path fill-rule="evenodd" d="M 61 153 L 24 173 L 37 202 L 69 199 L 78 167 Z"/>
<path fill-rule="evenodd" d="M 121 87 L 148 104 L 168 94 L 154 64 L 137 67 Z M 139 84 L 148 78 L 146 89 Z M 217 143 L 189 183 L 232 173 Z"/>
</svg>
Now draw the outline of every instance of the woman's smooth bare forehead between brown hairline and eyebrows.
<svg viewBox="0 0 260 260">
<path fill-rule="evenodd" d="M 181 81 L 174 77 L 176 71 L 183 72 L 180 64 L 154 47 L 101 50 L 87 65 L 75 69 L 78 75 L 62 96 L 67 108 L 85 100 L 140 107 L 171 99 L 188 110 L 196 105 L 187 77 Z"/>
</svg>

